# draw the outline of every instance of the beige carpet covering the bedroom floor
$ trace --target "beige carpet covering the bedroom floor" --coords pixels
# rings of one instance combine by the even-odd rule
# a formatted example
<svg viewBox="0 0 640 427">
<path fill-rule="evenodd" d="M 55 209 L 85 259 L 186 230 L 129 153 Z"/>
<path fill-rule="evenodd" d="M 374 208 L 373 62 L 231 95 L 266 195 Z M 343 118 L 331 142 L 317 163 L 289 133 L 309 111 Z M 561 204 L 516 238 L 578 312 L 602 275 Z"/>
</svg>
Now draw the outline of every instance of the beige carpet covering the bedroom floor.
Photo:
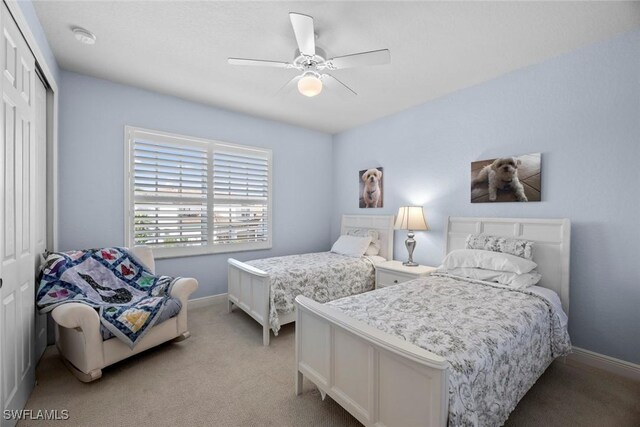
<svg viewBox="0 0 640 427">
<path fill-rule="evenodd" d="M 190 339 L 166 344 L 83 384 L 47 349 L 27 409 L 67 409 L 74 426 L 357 426 L 305 381 L 294 394 L 294 326 L 269 347 L 262 330 L 226 305 L 189 313 Z M 20 426 L 44 425 L 23 421 Z M 640 426 L 640 383 L 555 362 L 508 426 Z"/>
</svg>

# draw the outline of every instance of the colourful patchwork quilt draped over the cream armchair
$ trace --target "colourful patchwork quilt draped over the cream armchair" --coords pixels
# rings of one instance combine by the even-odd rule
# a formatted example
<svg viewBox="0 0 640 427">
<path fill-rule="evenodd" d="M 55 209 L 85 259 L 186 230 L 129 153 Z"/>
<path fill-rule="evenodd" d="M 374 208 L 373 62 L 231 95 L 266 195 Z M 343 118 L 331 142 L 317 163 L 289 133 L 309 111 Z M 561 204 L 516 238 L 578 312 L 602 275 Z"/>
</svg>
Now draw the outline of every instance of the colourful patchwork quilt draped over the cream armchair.
<svg viewBox="0 0 640 427">
<path fill-rule="evenodd" d="M 40 313 L 69 302 L 94 307 L 102 325 L 133 348 L 167 305 L 180 307 L 169 296 L 176 280 L 155 276 L 125 248 L 56 252 L 42 266 L 36 302 Z"/>
</svg>

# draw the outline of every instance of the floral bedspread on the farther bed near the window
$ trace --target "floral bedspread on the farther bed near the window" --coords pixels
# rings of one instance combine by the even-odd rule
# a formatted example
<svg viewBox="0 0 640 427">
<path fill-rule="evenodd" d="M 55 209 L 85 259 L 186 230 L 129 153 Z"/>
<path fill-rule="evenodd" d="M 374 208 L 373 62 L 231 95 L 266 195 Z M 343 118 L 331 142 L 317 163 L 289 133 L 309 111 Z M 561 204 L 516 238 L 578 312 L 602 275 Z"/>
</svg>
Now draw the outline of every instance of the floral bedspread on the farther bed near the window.
<svg viewBox="0 0 640 427">
<path fill-rule="evenodd" d="M 294 311 L 298 295 L 324 303 L 370 291 L 375 285 L 373 262 L 365 257 L 319 252 L 258 259 L 247 264 L 269 273 L 269 323 L 276 335 L 280 330 L 278 316 Z"/>
</svg>

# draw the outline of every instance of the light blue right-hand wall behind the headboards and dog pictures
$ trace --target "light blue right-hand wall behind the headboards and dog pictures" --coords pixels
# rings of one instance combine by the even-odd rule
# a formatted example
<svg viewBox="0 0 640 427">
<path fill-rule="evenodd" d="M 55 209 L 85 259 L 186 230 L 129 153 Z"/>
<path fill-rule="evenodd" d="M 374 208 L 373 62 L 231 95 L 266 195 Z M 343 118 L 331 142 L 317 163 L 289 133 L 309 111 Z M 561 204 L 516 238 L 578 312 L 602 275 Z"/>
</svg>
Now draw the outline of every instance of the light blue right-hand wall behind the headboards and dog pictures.
<svg viewBox="0 0 640 427">
<path fill-rule="evenodd" d="M 470 162 L 533 152 L 542 202 L 469 202 Z M 425 206 L 424 264 L 440 263 L 449 215 L 570 218 L 573 343 L 640 363 L 640 31 L 335 135 L 333 159 L 333 236 L 365 212 L 357 171 L 383 166 L 377 212 Z"/>
</svg>

